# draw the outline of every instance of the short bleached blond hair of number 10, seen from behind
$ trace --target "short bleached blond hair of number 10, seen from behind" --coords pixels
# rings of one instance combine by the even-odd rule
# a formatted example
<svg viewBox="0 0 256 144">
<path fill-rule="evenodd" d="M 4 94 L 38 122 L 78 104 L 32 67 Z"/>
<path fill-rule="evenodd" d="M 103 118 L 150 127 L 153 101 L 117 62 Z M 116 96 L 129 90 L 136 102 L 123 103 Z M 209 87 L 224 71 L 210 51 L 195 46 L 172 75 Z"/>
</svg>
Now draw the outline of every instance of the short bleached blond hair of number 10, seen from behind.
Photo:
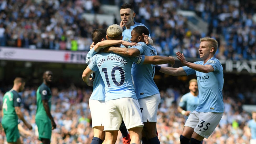
<svg viewBox="0 0 256 144">
<path fill-rule="evenodd" d="M 110 39 L 121 38 L 122 33 L 123 33 L 123 30 L 121 26 L 117 24 L 110 25 L 107 29 L 107 36 Z"/>
</svg>

